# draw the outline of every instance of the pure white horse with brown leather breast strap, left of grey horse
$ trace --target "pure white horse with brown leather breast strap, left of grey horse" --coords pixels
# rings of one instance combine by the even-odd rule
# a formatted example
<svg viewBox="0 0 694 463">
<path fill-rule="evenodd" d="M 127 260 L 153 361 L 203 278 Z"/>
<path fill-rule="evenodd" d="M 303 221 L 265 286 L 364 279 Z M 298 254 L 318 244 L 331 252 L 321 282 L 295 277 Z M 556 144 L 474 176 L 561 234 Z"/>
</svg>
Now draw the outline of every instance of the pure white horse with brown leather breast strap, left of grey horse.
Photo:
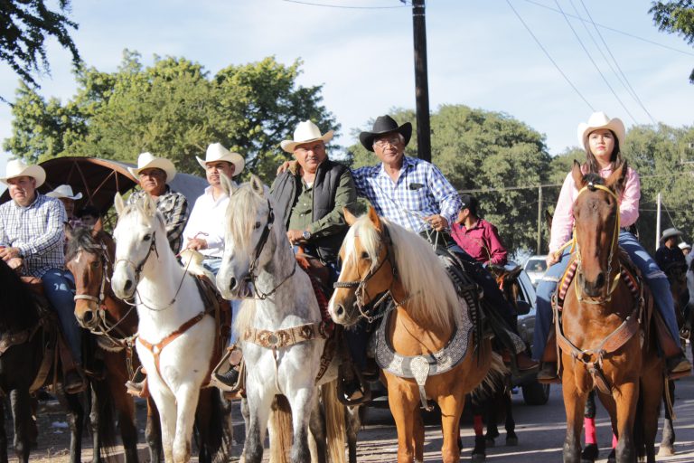
<svg viewBox="0 0 694 463">
<path fill-rule="evenodd" d="M 126 206 L 117 194 L 115 205 L 111 286 L 118 298 L 136 300 L 136 349 L 161 417 L 164 459 L 188 461 L 200 389 L 210 369 L 214 319 L 205 314 L 194 278 L 176 261 L 155 202 L 145 196 Z"/>
</svg>

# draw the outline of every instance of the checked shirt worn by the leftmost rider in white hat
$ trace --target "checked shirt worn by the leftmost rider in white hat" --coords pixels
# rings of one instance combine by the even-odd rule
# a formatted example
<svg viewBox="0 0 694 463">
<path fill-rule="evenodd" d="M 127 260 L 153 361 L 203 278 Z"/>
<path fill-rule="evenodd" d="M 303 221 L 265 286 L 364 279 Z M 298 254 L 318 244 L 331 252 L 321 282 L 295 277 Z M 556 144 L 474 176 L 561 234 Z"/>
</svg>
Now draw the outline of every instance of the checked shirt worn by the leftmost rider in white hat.
<svg viewBox="0 0 694 463">
<path fill-rule="evenodd" d="M 0 244 L 18 248 L 29 275 L 42 278 L 50 269 L 64 269 L 63 223 L 68 221 L 61 201 L 36 192 L 26 207 L 13 200 L 0 205 Z"/>
</svg>

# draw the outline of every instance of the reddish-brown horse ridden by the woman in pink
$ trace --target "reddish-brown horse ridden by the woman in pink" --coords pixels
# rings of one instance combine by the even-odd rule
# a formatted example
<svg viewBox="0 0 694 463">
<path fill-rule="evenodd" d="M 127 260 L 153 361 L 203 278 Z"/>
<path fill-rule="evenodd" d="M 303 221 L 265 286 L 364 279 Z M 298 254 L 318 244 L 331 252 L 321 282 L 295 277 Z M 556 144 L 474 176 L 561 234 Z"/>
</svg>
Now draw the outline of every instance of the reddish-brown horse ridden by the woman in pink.
<svg viewBox="0 0 694 463">
<path fill-rule="evenodd" d="M 556 321 L 564 368 L 567 462 L 580 460 L 586 397 L 596 387 L 619 438 L 616 460 L 631 462 L 645 454 L 649 462 L 655 461 L 663 365 L 649 329 L 644 283 L 638 285 L 620 261 L 615 191 L 625 169 L 624 164 L 603 180 L 584 176 L 577 163 L 573 168 L 579 188 L 573 205 L 577 270 L 566 291 L 561 322 Z"/>
</svg>

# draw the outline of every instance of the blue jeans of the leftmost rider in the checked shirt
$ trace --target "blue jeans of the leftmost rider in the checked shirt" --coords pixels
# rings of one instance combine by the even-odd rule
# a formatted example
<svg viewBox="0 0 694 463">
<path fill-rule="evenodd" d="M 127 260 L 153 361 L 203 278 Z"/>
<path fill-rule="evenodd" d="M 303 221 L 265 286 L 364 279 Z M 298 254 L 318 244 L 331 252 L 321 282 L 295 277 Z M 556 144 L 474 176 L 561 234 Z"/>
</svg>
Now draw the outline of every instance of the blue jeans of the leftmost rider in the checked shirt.
<svg viewBox="0 0 694 463">
<path fill-rule="evenodd" d="M 42 276 L 43 291 L 58 313 L 62 335 L 75 362 L 82 364 L 82 329 L 75 318 L 75 280 L 67 270 L 50 269 Z"/>
</svg>

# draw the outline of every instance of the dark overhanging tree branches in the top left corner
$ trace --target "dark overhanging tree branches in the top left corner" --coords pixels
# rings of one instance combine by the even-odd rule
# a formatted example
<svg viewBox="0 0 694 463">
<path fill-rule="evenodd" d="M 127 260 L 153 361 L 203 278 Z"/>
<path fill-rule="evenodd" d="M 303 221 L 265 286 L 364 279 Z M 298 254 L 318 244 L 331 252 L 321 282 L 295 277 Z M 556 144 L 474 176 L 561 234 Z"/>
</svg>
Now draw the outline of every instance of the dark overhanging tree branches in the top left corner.
<svg viewBox="0 0 694 463">
<path fill-rule="evenodd" d="M 32 73 L 50 71 L 46 57 L 46 38 L 54 37 L 72 53 L 72 62 L 80 63 L 77 46 L 69 29 L 78 25 L 65 13 L 70 0 L 58 0 L 59 11 L 52 11 L 44 0 L 5 0 L 0 13 L 0 60 L 5 61 L 19 77 L 36 87 Z"/>
</svg>

